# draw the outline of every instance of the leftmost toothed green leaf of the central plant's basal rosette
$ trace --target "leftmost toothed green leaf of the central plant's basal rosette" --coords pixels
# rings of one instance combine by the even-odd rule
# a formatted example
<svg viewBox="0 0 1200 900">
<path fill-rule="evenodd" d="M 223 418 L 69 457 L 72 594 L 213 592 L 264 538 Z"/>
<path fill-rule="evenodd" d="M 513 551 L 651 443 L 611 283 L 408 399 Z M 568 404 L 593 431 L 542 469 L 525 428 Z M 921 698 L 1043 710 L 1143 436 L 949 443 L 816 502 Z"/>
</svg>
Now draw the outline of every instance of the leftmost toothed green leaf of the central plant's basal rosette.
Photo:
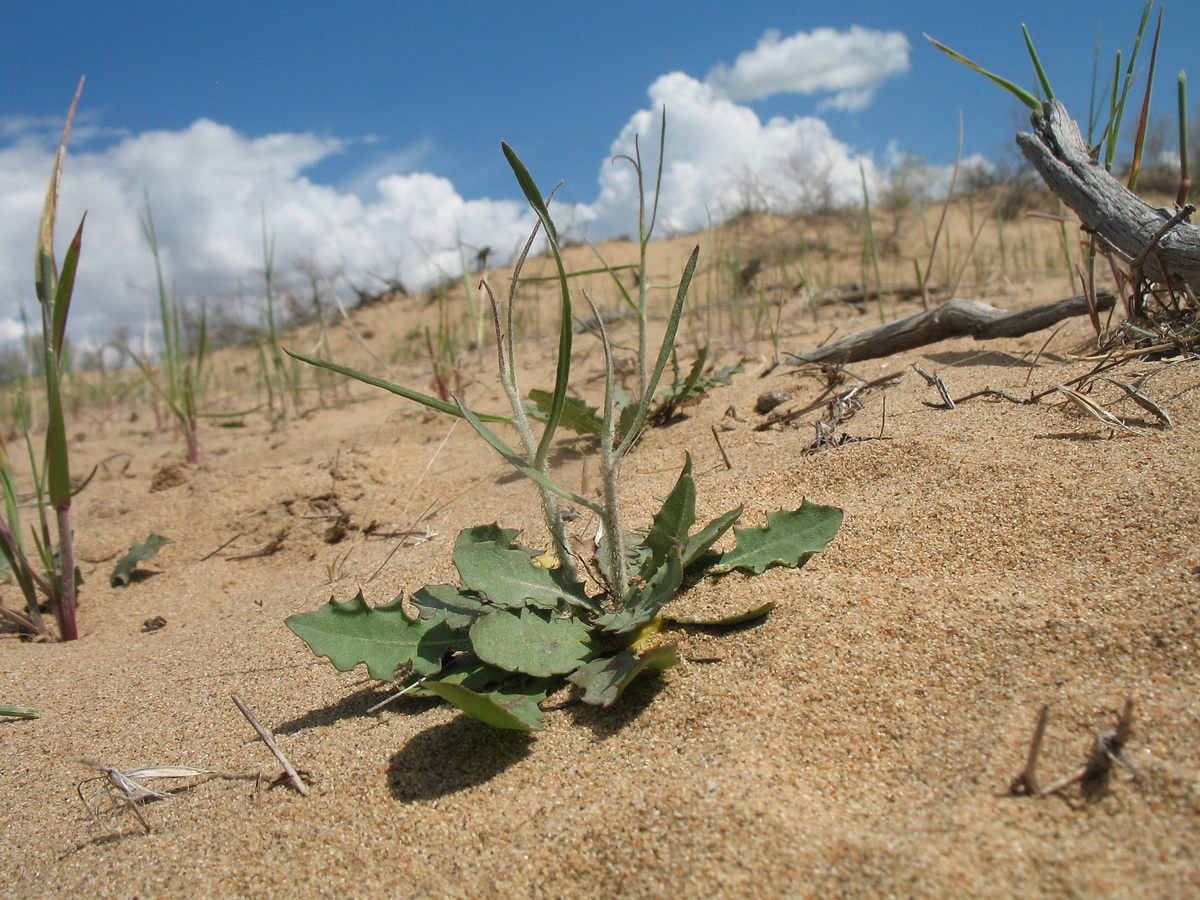
<svg viewBox="0 0 1200 900">
<path fill-rule="evenodd" d="M 362 592 L 344 604 L 330 600 L 313 612 L 290 616 L 287 626 L 318 656 L 328 656 L 338 672 L 360 662 L 372 678 L 391 680 L 396 668 L 410 665 L 418 674 L 432 674 L 450 650 L 468 648 L 462 631 L 455 631 L 444 614 L 413 619 L 402 598 L 371 608 Z"/>
</svg>

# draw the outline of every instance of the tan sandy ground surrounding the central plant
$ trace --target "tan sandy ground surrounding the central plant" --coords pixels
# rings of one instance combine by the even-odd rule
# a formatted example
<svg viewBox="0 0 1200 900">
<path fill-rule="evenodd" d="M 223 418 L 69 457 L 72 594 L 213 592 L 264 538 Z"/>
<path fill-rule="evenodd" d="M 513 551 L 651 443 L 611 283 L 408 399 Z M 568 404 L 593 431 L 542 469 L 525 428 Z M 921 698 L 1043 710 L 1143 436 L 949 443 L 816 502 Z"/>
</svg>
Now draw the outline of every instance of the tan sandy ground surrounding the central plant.
<svg viewBox="0 0 1200 900">
<path fill-rule="evenodd" d="M 1014 305 L 1062 287 L 977 296 Z M 420 307 L 401 301 L 360 324 Z M 823 310 L 814 322 L 788 305 L 781 348 L 815 347 L 872 316 Z M 0 701 L 44 713 L 0 724 L 0 893 L 1200 894 L 1200 368 L 1127 364 L 1118 377 L 1152 373 L 1146 391 L 1175 421 L 1114 407 L 1128 437 L 1051 398 L 934 408 L 935 391 L 910 368 L 938 371 L 955 396 L 1028 396 L 1087 371 L 1070 356 L 1088 335 L 1070 323 L 1036 362 L 1046 332 L 852 366 L 868 379 L 904 377 L 863 397 L 845 426 L 859 440 L 816 455 L 805 448 L 822 409 L 757 431 L 754 406 L 785 389 L 782 408 L 803 408 L 823 379 L 788 366 L 762 377 L 773 342 L 731 340 L 720 362 L 749 352 L 746 372 L 630 457 L 630 521 L 648 522 L 690 451 L 702 515 L 745 504 L 746 521 L 761 522 L 808 497 L 844 508 L 845 526 L 799 572 L 730 576 L 680 601 L 778 601 L 751 628 L 678 632 L 685 658 L 715 661 L 644 678 L 610 710 L 557 695 L 534 737 L 425 700 L 367 715 L 386 685 L 361 668 L 336 672 L 283 624 L 360 587 L 382 602 L 452 577 L 464 527 L 499 520 L 545 541 L 528 486 L 464 427 L 355 390 L 352 403 L 274 427 L 262 415 L 239 430 L 206 425 L 202 464 L 152 491 L 179 464 L 181 440 L 144 433 L 145 409 L 134 422 L 124 407 L 80 415 L 74 467 L 107 461 L 76 503 L 84 636 L 0 635 Z M 528 349 L 542 366 L 548 342 Z M 469 366 L 485 404 L 490 359 Z M 427 383 L 419 364 L 409 371 Z M 582 478 L 569 449 L 562 466 Z M 338 517 L 346 536 L 328 542 Z M 115 559 L 150 532 L 174 544 L 136 583 L 110 589 Z M 388 536 L 397 532 L 419 538 Z M 154 617 L 166 626 L 144 630 Z M 198 778 L 144 805 L 149 835 L 128 812 L 92 821 L 77 796 L 94 774 L 80 758 L 275 778 L 234 691 L 311 773 L 310 797 Z M 1136 779 L 1118 767 L 1092 802 L 1078 786 L 1008 796 L 1042 704 L 1050 782 L 1082 766 L 1126 697 L 1136 703 L 1124 749 Z M 100 782 L 83 790 L 103 800 Z"/>
</svg>

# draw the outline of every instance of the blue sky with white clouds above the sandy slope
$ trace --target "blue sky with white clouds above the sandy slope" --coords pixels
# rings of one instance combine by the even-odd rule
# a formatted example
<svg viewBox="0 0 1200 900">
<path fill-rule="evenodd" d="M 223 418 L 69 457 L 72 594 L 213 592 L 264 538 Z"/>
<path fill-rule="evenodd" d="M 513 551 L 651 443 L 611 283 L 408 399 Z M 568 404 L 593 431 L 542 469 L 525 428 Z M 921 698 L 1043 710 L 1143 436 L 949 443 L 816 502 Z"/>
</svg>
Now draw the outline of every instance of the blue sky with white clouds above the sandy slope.
<svg viewBox="0 0 1200 900">
<path fill-rule="evenodd" d="M 1183 7 L 1165 5 L 1162 109 L 1200 44 Z M 502 139 L 544 186 L 564 180 L 559 199 L 576 229 L 611 236 L 628 230 L 631 198 L 606 161 L 656 127 L 652 110 L 665 102 L 678 163 L 667 221 L 688 229 L 734 202 L 731 179 L 776 186 L 797 166 L 823 164 L 848 191 L 859 160 L 877 172 L 892 149 L 947 164 L 960 113 L 967 156 L 1008 152 L 1024 119 L 1015 101 L 924 32 L 1031 85 L 1026 23 L 1058 96 L 1084 116 L 1097 40 L 1110 72 L 1140 13 L 1138 0 L 737 10 L 710 0 L 6 0 L 0 318 L 31 293 L 32 198 L 80 74 L 64 221 L 89 209 L 74 331 L 103 341 L 150 308 L 144 192 L 181 294 L 220 296 L 251 280 L 264 212 L 284 264 L 307 258 L 352 282 L 376 272 L 415 286 L 454 268 L 456 240 L 504 256 L 528 227 Z M 1139 67 L 1147 60 L 1148 46 Z"/>
</svg>

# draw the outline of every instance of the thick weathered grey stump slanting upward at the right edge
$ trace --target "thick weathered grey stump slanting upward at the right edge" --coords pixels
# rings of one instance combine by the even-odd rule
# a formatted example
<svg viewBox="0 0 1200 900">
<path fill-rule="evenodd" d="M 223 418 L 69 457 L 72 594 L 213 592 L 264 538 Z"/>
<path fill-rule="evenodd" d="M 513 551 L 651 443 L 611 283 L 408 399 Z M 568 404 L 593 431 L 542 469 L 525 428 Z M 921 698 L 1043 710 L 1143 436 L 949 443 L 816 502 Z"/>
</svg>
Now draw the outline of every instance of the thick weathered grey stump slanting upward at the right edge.
<svg viewBox="0 0 1200 900">
<path fill-rule="evenodd" d="M 1016 136 L 1021 152 L 1046 186 L 1075 211 L 1084 228 L 1133 263 L 1153 244 L 1174 212 L 1151 206 L 1093 162 L 1079 125 L 1057 100 L 1044 103 L 1031 121 L 1033 133 Z M 1200 228 L 1187 222 L 1170 228 L 1141 270 L 1150 281 L 1176 287 L 1183 282 L 1200 293 Z"/>
</svg>

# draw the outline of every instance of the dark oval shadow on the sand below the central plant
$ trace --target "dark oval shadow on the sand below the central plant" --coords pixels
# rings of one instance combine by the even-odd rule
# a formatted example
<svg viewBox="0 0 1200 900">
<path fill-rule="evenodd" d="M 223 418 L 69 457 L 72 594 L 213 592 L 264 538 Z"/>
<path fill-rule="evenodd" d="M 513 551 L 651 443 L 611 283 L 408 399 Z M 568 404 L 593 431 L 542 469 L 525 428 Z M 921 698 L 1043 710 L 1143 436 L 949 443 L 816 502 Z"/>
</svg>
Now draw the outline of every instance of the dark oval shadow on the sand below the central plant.
<svg viewBox="0 0 1200 900">
<path fill-rule="evenodd" d="M 524 732 L 498 731 L 460 715 L 426 728 L 391 757 L 388 788 L 397 800 L 433 800 L 490 781 L 534 746 Z"/>
</svg>

